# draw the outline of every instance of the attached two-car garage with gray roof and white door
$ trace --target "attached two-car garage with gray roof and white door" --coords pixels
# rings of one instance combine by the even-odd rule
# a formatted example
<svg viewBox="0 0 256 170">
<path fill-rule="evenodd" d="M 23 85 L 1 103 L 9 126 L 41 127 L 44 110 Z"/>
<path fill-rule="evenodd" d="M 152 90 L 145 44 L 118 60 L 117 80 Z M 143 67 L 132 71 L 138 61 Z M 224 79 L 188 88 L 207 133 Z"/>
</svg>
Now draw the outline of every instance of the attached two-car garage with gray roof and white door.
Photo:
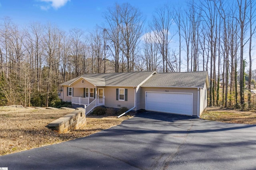
<svg viewBox="0 0 256 170">
<path fill-rule="evenodd" d="M 156 73 L 141 85 L 140 109 L 200 117 L 208 87 L 207 72 Z"/>
</svg>

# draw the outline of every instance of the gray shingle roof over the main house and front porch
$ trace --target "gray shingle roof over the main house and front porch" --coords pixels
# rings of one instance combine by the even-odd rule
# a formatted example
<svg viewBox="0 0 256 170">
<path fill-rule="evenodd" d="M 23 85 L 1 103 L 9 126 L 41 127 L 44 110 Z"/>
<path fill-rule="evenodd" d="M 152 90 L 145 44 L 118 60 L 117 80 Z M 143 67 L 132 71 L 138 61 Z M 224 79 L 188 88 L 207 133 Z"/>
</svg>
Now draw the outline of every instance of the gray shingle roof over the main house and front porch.
<svg viewBox="0 0 256 170">
<path fill-rule="evenodd" d="M 60 85 L 70 86 L 79 78 L 84 78 L 96 86 L 138 86 L 154 73 L 155 71 L 84 74 Z"/>
</svg>

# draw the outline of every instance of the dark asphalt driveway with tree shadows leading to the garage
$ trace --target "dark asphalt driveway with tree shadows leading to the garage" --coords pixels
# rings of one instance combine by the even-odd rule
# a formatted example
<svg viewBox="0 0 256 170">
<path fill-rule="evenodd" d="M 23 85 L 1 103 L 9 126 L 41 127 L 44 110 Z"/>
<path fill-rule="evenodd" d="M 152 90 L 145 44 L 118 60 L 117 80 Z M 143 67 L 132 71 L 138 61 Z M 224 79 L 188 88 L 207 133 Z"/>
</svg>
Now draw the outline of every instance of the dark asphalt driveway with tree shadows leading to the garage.
<svg viewBox="0 0 256 170">
<path fill-rule="evenodd" d="M 256 125 L 137 114 L 88 137 L 0 156 L 13 169 L 256 169 Z"/>
</svg>

